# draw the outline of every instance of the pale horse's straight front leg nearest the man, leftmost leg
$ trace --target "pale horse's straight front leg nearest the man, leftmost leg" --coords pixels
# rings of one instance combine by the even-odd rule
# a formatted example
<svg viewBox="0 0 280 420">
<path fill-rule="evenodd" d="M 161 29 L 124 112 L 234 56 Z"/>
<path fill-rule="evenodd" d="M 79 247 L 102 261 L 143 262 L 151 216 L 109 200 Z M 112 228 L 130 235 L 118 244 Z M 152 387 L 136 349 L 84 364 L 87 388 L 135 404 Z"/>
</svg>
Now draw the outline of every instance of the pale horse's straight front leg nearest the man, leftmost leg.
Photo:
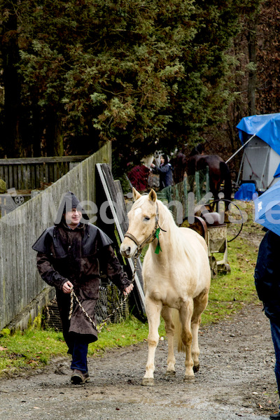
<svg viewBox="0 0 280 420">
<path fill-rule="evenodd" d="M 162 302 L 155 301 L 150 297 L 145 299 L 146 314 L 148 318 L 148 360 L 146 373 L 142 385 L 153 385 L 153 372 L 155 371 L 155 349 L 158 346 L 158 327 L 160 326 L 160 312 Z"/>
</svg>

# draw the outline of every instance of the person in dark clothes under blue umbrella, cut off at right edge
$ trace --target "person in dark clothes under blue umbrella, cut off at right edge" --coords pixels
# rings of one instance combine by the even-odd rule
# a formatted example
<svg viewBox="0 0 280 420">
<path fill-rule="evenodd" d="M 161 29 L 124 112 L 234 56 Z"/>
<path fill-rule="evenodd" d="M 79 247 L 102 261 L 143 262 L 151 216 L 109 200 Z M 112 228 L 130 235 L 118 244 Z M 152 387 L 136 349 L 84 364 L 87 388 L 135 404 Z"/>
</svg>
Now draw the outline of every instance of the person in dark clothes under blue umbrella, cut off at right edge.
<svg viewBox="0 0 280 420">
<path fill-rule="evenodd" d="M 278 393 L 280 395 L 280 237 L 268 230 L 262 238 L 255 265 L 255 288 L 269 318 L 274 344 Z M 280 420 L 279 412 L 271 414 L 271 420 Z"/>
</svg>

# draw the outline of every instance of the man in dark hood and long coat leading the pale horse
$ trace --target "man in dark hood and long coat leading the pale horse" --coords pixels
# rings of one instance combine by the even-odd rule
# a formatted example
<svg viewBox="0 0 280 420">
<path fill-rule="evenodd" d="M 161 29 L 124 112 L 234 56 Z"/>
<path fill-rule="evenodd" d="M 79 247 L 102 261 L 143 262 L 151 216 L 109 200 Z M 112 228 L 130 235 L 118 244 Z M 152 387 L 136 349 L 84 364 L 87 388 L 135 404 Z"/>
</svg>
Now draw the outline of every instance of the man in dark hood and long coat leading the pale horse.
<svg viewBox="0 0 280 420">
<path fill-rule="evenodd" d="M 32 246 L 37 251 L 37 267 L 42 279 L 56 289 L 63 335 L 68 353 L 72 355 L 73 384 L 90 380 L 87 347 L 97 340 L 94 307 L 99 297 L 99 269 L 125 295 L 133 288 L 113 251 L 113 242 L 88 220 L 76 195 L 66 193 L 55 225 L 46 229 Z M 72 288 L 93 323 L 75 299 L 69 319 Z"/>
</svg>

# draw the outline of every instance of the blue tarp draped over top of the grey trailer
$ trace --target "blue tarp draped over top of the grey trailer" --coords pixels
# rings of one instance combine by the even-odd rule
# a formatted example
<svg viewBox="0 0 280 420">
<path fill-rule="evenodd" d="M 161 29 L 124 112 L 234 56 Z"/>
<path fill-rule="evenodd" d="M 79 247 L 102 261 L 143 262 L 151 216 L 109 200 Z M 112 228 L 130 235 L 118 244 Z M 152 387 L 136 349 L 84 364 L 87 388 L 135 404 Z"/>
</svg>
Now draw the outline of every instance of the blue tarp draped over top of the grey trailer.
<svg viewBox="0 0 280 420">
<path fill-rule="evenodd" d="M 244 117 L 237 128 L 242 144 L 255 134 L 280 155 L 280 113 Z"/>
</svg>

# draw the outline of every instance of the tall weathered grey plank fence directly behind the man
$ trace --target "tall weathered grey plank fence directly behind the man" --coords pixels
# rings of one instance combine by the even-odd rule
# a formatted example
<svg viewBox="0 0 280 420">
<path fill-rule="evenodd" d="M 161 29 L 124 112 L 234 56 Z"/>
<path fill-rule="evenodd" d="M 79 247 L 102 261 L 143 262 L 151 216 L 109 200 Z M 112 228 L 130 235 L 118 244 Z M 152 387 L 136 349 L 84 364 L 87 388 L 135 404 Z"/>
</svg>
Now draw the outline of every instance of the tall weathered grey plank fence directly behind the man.
<svg viewBox="0 0 280 420">
<path fill-rule="evenodd" d="M 71 190 L 80 201 L 96 202 L 95 164 L 103 162 L 111 164 L 110 144 L 0 219 L 0 330 L 45 289 L 31 246 L 45 228 L 53 225 L 66 191 Z"/>
</svg>

